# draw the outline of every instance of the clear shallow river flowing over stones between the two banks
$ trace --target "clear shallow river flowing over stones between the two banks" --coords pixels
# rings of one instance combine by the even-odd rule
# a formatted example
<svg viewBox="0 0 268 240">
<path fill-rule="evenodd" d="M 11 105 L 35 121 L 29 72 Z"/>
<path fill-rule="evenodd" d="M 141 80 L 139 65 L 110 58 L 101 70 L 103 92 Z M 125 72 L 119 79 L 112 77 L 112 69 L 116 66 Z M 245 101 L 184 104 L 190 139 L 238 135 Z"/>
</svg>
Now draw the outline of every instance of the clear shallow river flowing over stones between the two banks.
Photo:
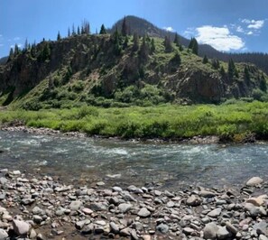
<svg viewBox="0 0 268 240">
<path fill-rule="evenodd" d="M 115 139 L 0 131 L 0 168 L 59 177 L 68 182 L 160 182 L 230 186 L 265 179 L 268 143 L 137 143 Z"/>
</svg>

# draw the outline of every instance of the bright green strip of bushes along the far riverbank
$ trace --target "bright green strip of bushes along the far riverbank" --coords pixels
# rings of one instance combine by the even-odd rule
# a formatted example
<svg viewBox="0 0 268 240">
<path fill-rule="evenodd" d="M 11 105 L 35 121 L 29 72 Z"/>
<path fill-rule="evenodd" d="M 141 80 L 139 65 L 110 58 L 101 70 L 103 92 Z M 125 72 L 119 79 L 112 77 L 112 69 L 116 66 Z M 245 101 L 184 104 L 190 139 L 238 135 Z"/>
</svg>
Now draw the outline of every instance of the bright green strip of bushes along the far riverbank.
<svg viewBox="0 0 268 240">
<path fill-rule="evenodd" d="M 62 132 L 79 131 L 89 135 L 123 138 L 188 138 L 195 135 L 218 135 L 241 141 L 248 134 L 268 136 L 268 103 L 196 106 L 150 106 L 40 111 L 0 111 L 0 123 L 21 120 L 27 126 L 48 127 Z"/>
</svg>

